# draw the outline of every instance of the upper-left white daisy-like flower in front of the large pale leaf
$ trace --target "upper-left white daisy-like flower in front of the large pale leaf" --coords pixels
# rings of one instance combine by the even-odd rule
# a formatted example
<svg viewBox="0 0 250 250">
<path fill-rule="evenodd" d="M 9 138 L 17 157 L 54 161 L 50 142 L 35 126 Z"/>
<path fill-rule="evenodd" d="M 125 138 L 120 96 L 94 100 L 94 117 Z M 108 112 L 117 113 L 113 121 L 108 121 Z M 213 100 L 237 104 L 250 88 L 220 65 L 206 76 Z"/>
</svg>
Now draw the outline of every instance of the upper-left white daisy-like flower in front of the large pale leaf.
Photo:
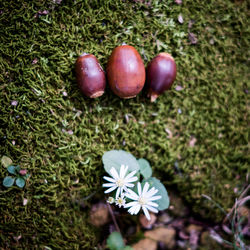
<svg viewBox="0 0 250 250">
<path fill-rule="evenodd" d="M 128 171 L 128 166 L 121 165 L 120 174 L 117 173 L 116 169 L 113 167 L 110 169 L 110 175 L 112 178 L 104 176 L 103 178 L 110 183 L 104 183 L 103 187 L 109 187 L 104 193 L 110 193 L 117 188 L 115 198 L 117 199 L 123 191 L 128 191 L 128 187 L 131 188 L 134 186 L 131 182 L 137 181 L 137 177 L 134 176 L 136 171 L 132 171 L 126 176 Z"/>
</svg>

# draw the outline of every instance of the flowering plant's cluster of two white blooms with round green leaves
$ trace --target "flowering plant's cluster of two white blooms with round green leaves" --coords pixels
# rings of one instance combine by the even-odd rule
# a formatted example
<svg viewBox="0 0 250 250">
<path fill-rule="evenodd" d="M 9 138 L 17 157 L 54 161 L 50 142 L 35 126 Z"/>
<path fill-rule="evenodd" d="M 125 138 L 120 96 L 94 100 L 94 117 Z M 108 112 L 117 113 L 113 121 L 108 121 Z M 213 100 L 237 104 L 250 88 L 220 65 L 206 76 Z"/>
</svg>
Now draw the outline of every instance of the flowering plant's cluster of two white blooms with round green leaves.
<svg viewBox="0 0 250 250">
<path fill-rule="evenodd" d="M 103 178 L 110 193 L 107 202 L 119 208 L 127 208 L 131 215 L 140 210 L 150 220 L 150 213 L 158 213 L 169 207 L 169 197 L 164 185 L 152 177 L 152 168 L 145 159 L 136 159 L 123 150 L 105 152 L 102 161 L 105 171 L 110 176 Z"/>
</svg>

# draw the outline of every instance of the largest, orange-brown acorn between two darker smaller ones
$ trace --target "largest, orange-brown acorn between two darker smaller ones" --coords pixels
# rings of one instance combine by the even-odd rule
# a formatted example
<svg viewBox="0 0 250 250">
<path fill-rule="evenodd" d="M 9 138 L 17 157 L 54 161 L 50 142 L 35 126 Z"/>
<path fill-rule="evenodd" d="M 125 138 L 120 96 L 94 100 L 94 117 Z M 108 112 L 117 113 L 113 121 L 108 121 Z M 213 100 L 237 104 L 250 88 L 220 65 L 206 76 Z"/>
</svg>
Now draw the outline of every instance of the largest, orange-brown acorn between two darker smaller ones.
<svg viewBox="0 0 250 250">
<path fill-rule="evenodd" d="M 108 83 L 121 98 L 135 97 L 145 83 L 145 67 L 137 50 L 129 45 L 116 47 L 108 61 Z"/>
</svg>

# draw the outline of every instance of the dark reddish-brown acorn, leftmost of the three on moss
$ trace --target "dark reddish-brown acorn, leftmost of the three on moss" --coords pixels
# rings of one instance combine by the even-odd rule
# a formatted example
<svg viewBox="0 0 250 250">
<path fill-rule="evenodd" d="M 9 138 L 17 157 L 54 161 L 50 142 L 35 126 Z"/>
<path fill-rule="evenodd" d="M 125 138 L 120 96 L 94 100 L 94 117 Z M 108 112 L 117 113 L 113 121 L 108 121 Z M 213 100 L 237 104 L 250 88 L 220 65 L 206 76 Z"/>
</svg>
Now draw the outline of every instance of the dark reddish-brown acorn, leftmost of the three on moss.
<svg viewBox="0 0 250 250">
<path fill-rule="evenodd" d="M 103 95 L 106 78 L 97 58 L 92 54 L 83 53 L 76 60 L 76 80 L 81 92 L 90 98 Z"/>
</svg>

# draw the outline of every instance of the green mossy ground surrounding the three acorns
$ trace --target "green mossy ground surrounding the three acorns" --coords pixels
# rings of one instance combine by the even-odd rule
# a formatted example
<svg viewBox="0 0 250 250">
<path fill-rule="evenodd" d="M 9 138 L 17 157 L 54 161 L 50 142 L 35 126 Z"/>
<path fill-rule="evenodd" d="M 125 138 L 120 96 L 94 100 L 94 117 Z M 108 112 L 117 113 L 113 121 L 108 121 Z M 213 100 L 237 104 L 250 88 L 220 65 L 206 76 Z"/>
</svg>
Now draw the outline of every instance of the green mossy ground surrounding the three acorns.
<svg viewBox="0 0 250 250">
<path fill-rule="evenodd" d="M 148 159 L 196 213 L 220 220 L 223 214 L 201 195 L 230 208 L 249 167 L 247 1 L 56 2 L 1 3 L 0 153 L 31 177 L 23 190 L 0 186 L 0 245 L 96 246 L 91 200 L 85 208 L 77 201 L 100 191 L 101 156 L 111 149 Z M 49 13 L 38 14 L 44 10 Z M 176 59 L 175 85 L 156 103 L 145 92 L 131 100 L 109 89 L 96 100 L 79 92 L 77 56 L 93 53 L 105 68 L 123 42 L 136 47 L 145 65 L 163 51 Z M 6 175 L 1 167 L 1 180 Z"/>
</svg>

